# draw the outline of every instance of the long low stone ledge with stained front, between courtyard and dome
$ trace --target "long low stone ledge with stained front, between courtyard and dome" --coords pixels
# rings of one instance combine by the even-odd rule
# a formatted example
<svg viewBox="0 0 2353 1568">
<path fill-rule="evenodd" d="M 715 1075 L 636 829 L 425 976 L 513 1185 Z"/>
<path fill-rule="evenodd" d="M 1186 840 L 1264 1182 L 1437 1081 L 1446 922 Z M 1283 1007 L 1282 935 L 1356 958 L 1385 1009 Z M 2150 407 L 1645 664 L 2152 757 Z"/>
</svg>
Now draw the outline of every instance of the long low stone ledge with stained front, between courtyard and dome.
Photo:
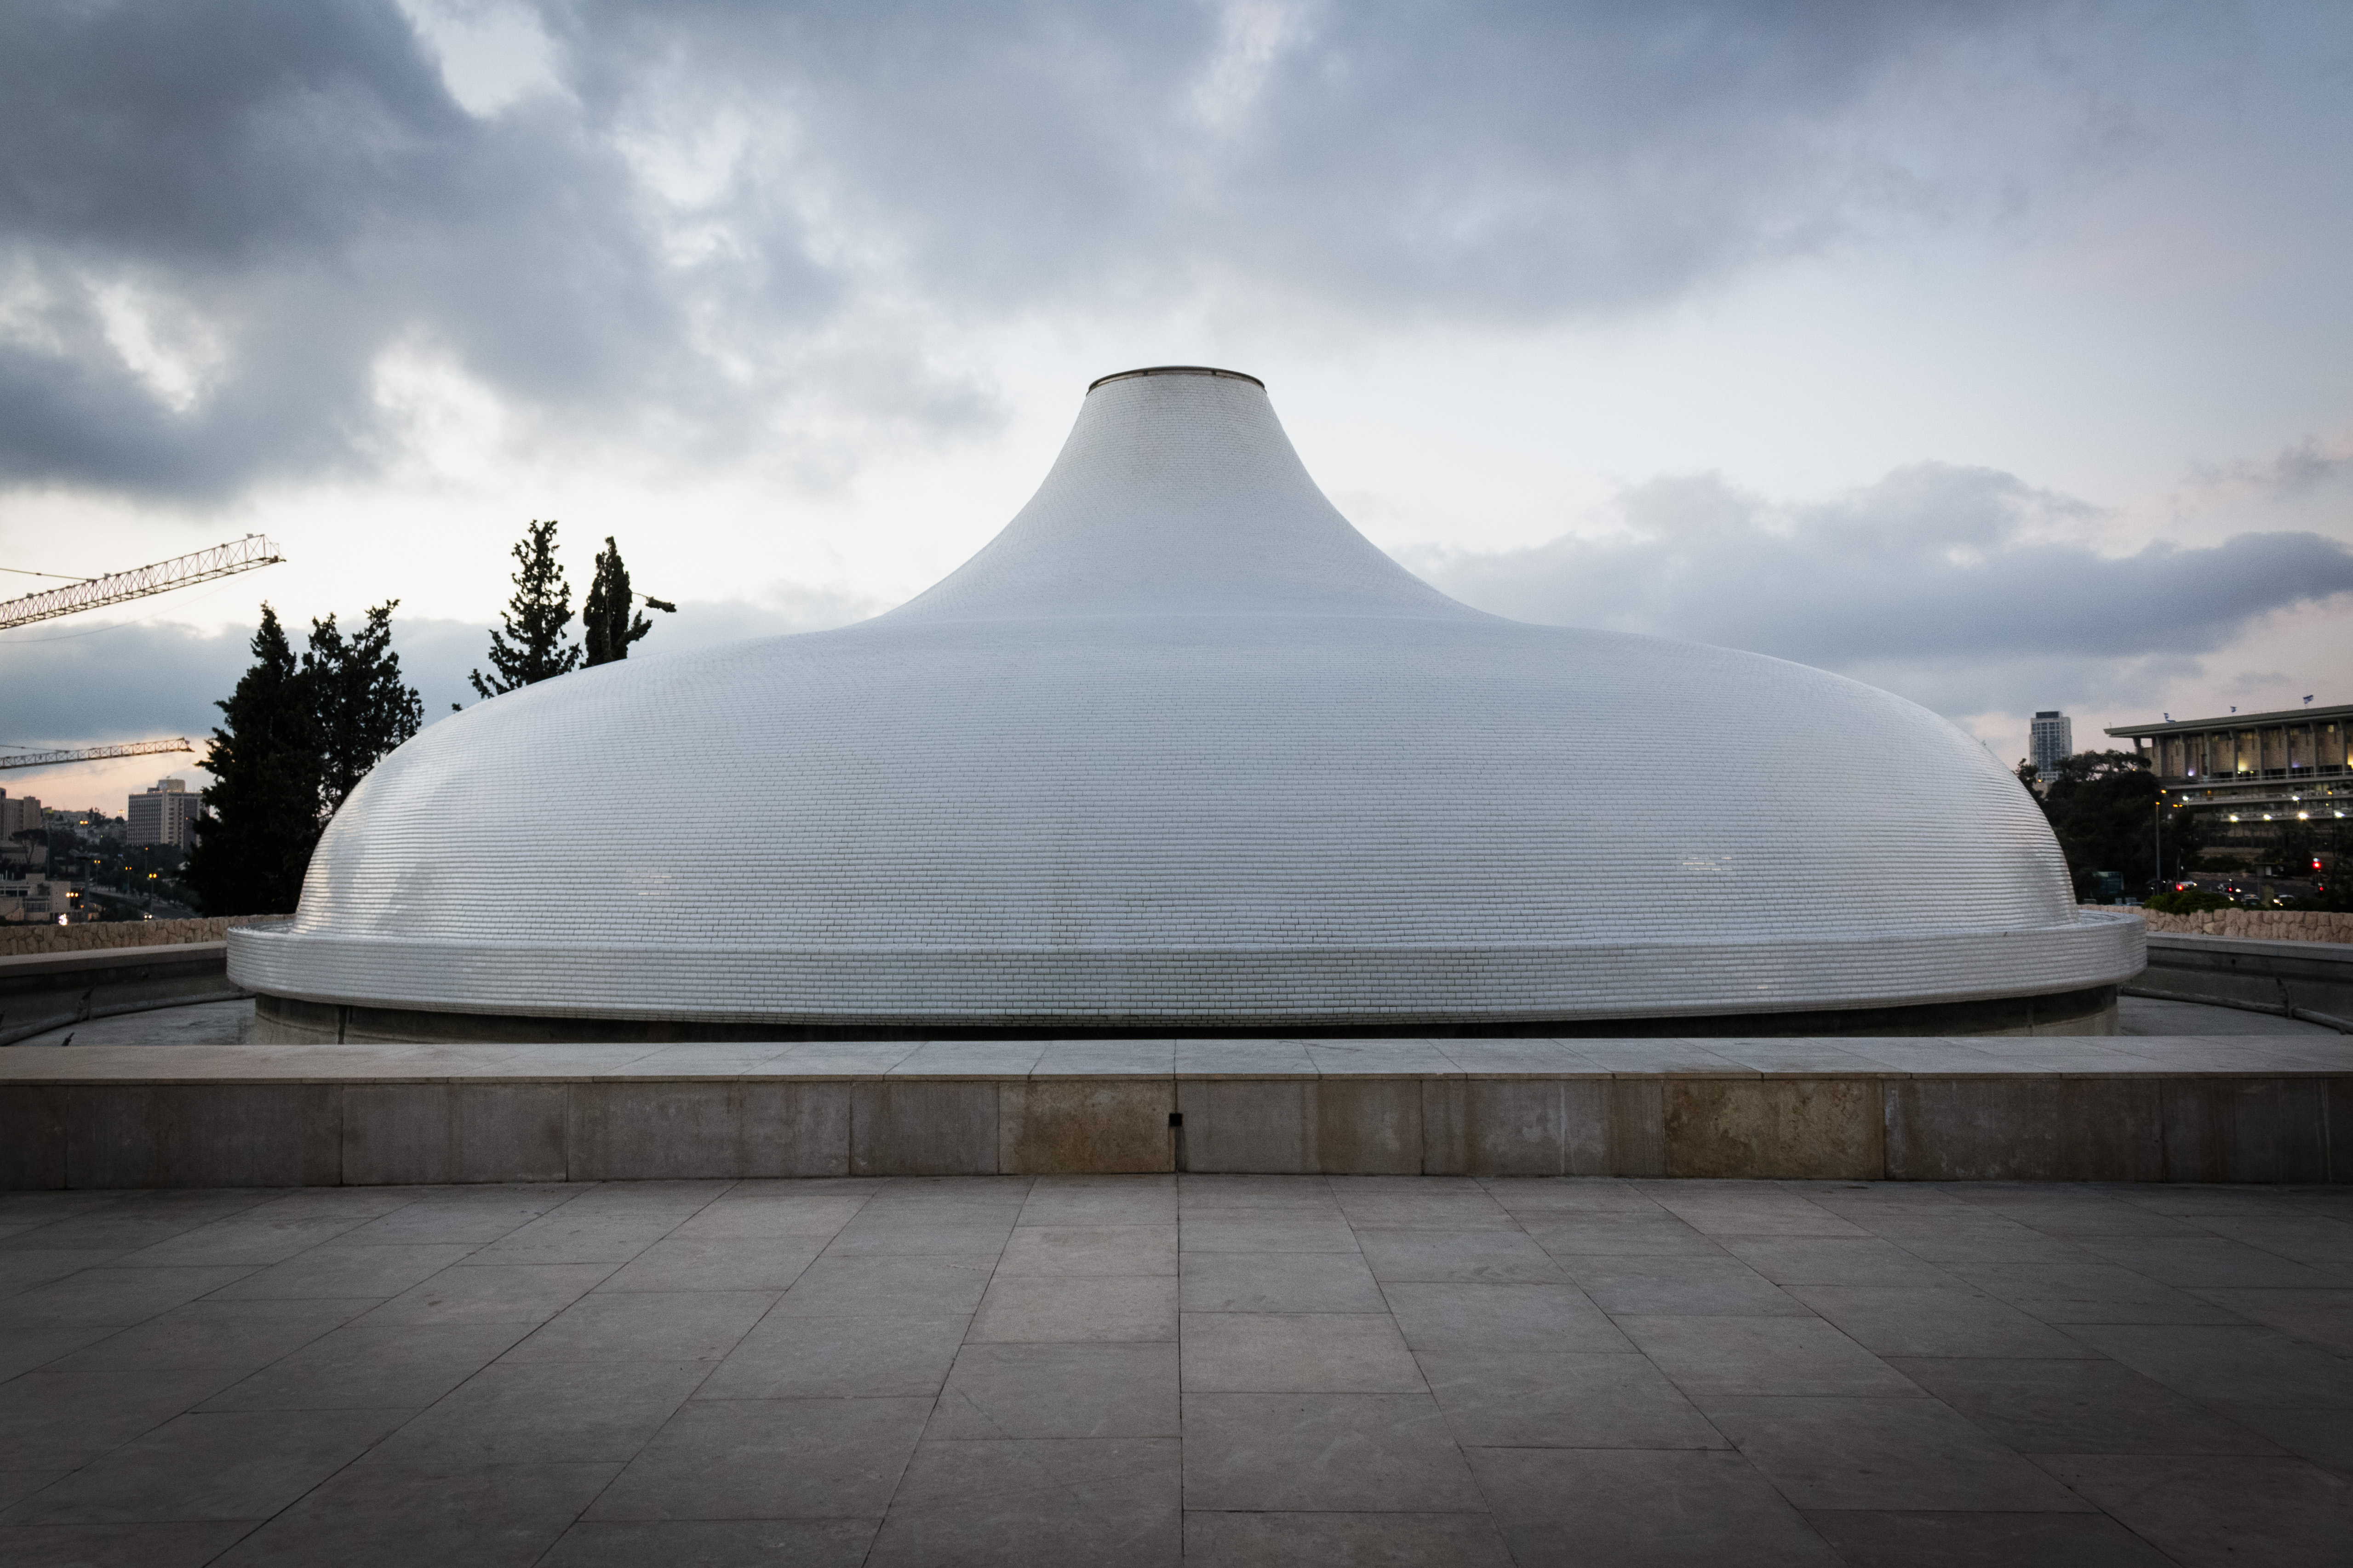
<svg viewBox="0 0 2353 1568">
<path fill-rule="evenodd" d="M 1292 1039 L 0 1053 L 0 1185 L 751 1175 L 2353 1180 L 2353 1041 Z"/>
</svg>

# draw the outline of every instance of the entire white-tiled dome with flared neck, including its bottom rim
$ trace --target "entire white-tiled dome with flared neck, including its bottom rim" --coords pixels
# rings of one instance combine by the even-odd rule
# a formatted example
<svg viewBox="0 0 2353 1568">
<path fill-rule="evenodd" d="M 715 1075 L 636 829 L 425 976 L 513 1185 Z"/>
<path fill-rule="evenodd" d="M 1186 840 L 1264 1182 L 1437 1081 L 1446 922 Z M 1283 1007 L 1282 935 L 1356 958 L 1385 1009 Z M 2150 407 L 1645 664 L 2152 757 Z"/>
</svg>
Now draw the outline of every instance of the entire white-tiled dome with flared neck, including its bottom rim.
<svg viewBox="0 0 2353 1568">
<path fill-rule="evenodd" d="M 896 611 L 433 724 L 296 917 L 231 933 L 275 997 L 779 1030 L 1525 1027 L 2139 969 L 1937 715 L 1457 604 L 1226 371 L 1096 383 Z"/>
</svg>

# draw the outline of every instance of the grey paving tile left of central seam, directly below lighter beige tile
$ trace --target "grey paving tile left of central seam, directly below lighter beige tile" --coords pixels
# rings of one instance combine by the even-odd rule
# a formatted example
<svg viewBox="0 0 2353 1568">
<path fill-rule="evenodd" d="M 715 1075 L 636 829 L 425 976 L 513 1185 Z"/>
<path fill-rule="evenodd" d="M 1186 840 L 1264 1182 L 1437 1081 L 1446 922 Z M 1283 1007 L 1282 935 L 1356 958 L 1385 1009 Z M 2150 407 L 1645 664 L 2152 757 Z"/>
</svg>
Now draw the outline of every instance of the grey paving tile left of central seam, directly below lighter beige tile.
<svg viewBox="0 0 2353 1568">
<path fill-rule="evenodd" d="M 965 1345 L 925 1439 L 1179 1436 L 1176 1345 Z"/>
</svg>

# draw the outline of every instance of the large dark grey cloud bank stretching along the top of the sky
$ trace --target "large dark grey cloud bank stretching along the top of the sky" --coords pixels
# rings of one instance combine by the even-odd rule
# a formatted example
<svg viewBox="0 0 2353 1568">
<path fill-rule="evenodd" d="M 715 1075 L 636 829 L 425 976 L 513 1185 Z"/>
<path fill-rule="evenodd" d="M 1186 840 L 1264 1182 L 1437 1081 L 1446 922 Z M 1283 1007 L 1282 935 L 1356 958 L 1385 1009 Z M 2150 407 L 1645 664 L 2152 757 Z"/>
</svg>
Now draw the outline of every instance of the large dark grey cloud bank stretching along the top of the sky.
<svg viewBox="0 0 2353 1568">
<path fill-rule="evenodd" d="M 551 0 L 475 118 L 393 0 L 7 7 L 0 484 L 365 470 L 393 346 L 692 461 L 986 421 L 894 310 L 1659 301 L 1918 202 L 1842 118 L 2009 9 Z"/>
</svg>

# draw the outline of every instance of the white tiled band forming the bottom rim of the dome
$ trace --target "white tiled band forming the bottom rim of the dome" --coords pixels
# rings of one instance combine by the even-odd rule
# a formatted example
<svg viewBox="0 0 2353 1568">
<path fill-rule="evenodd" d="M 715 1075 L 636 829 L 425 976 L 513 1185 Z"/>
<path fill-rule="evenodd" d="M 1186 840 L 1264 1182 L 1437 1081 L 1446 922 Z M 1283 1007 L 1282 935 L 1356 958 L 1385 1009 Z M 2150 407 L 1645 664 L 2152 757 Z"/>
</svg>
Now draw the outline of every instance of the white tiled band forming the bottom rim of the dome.
<svg viewBox="0 0 2353 1568">
<path fill-rule="evenodd" d="M 1800 943 L 1459 947 L 640 947 L 228 933 L 273 997 L 826 1027 L 1464 1025 L 1934 1006 L 2120 985 L 2137 914 Z M 1697 980 L 1697 983 L 1694 983 Z M 722 1001 L 713 1001 L 722 997 Z"/>
</svg>

